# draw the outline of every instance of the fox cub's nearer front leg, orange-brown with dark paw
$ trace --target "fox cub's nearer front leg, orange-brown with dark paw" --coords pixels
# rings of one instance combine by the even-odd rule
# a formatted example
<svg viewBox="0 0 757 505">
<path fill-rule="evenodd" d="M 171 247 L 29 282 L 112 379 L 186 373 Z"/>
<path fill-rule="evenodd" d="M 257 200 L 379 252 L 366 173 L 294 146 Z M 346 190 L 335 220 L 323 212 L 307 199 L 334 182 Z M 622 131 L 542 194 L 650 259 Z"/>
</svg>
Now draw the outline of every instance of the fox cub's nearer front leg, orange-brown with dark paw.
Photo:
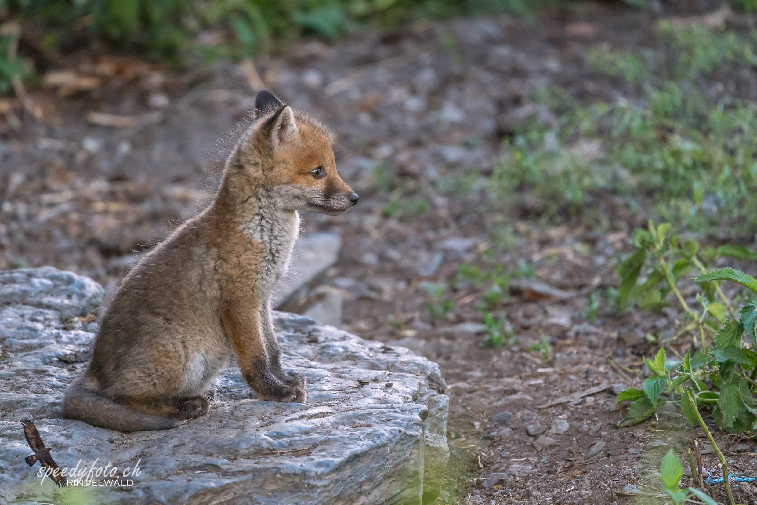
<svg viewBox="0 0 757 505">
<path fill-rule="evenodd" d="M 227 302 L 223 304 L 221 320 L 231 338 L 241 374 L 261 400 L 305 402 L 304 377 L 284 372 L 279 363 L 278 344 L 273 348 L 266 341 L 258 310 Z"/>
</svg>

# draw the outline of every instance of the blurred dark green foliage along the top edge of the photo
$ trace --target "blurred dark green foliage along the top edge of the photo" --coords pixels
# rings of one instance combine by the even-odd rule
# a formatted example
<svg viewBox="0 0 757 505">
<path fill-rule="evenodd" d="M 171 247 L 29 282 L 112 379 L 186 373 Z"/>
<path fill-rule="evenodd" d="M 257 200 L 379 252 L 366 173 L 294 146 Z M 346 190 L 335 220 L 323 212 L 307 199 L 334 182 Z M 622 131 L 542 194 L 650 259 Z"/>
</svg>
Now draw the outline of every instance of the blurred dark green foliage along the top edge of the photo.
<svg viewBox="0 0 757 505">
<path fill-rule="evenodd" d="M 537 4 L 547 2 L 539 0 Z M 226 29 L 226 50 L 248 56 L 275 38 L 334 39 L 354 23 L 380 25 L 491 11 L 525 12 L 526 0 L 0 0 L 0 20 L 39 23 L 46 45 L 98 36 L 155 58 L 197 48 L 204 30 Z"/>
</svg>

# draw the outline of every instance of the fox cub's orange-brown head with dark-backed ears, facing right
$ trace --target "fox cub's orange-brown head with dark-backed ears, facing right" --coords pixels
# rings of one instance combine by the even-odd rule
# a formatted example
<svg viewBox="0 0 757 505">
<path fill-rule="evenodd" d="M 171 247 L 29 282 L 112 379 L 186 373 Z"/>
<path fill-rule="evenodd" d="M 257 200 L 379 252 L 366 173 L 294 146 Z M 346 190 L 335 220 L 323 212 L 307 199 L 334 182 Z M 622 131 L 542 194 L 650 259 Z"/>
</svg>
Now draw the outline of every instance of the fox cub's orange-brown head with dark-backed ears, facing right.
<svg viewBox="0 0 757 505">
<path fill-rule="evenodd" d="M 256 123 L 240 145 L 242 170 L 257 179 L 285 210 L 314 210 L 332 216 L 357 204 L 358 196 L 336 171 L 332 133 L 295 112 L 271 92 L 257 94 Z"/>
</svg>

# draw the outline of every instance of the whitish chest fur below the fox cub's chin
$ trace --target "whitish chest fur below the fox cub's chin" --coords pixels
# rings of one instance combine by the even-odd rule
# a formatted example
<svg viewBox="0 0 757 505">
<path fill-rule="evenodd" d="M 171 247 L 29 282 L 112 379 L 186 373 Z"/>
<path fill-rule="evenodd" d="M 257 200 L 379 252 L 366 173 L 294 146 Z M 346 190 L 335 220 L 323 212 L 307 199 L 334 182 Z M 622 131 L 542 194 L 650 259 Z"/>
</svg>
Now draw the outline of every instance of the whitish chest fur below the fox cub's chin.
<svg viewBox="0 0 757 505">
<path fill-rule="evenodd" d="M 299 229 L 297 211 L 280 210 L 265 200 L 260 201 L 252 219 L 242 226 L 245 235 L 263 245 L 259 265 L 261 295 L 269 295 L 286 273 Z"/>
</svg>

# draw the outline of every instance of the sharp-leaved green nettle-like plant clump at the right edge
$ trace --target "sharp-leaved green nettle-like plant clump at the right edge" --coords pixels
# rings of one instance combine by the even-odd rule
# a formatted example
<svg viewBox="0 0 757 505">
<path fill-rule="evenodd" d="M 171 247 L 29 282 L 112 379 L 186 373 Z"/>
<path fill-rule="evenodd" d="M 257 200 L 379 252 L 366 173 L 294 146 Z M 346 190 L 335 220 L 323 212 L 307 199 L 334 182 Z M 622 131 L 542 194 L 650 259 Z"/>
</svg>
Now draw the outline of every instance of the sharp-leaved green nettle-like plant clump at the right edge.
<svg viewBox="0 0 757 505">
<path fill-rule="evenodd" d="M 618 395 L 618 401 L 634 401 L 619 426 L 643 421 L 672 396 L 680 398 L 681 409 L 692 424 L 696 424 L 699 408 L 712 408 L 712 417 L 721 429 L 737 433 L 755 429 L 757 353 L 743 344 L 742 335 L 746 334 L 749 344 L 757 344 L 757 302 L 743 301 L 737 311 L 718 283 L 738 282 L 757 295 L 757 280 L 740 270 L 707 271 L 704 266 L 719 255 L 753 257 L 755 253 L 733 246 L 699 251 L 696 241 L 679 246 L 678 238 L 668 235 L 669 229 L 650 222 L 648 230 L 634 231 L 634 252 L 618 267 L 618 304 L 623 307 L 638 301 L 642 307 L 655 308 L 667 303 L 667 295 L 674 295 L 685 313 L 683 328 L 674 338 L 692 332 L 693 344 L 699 344 L 700 350 L 693 356 L 687 351 L 681 361 L 666 360 L 664 348 L 653 361 L 645 357 L 651 376 L 644 379 L 642 389 L 629 388 Z M 699 309 L 691 307 L 678 289 L 690 267 L 700 271 L 693 279 L 702 287 L 696 297 Z M 709 346 L 711 337 L 714 345 Z"/>
</svg>

